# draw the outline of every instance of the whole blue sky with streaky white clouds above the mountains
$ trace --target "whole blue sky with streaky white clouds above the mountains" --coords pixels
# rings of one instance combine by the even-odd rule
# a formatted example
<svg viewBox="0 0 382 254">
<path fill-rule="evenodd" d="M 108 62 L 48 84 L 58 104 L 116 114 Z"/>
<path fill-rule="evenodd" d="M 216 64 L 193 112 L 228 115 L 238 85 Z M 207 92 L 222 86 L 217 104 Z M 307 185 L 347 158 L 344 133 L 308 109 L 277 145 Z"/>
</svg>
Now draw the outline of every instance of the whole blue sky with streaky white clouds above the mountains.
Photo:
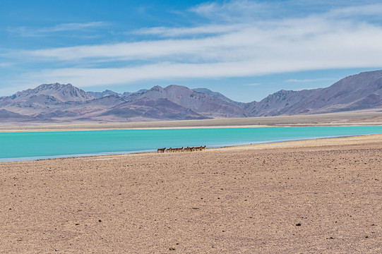
<svg viewBox="0 0 382 254">
<path fill-rule="evenodd" d="M 241 102 L 382 69 L 381 1 L 0 0 L 0 95 L 206 87 Z"/>
</svg>

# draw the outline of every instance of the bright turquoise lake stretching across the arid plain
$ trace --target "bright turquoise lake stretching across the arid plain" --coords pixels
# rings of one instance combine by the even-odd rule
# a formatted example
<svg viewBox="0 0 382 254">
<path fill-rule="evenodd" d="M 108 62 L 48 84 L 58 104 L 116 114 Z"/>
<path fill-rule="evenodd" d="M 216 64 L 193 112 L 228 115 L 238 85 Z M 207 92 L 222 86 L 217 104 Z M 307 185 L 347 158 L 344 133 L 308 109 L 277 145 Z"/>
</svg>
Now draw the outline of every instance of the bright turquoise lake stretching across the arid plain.
<svg viewBox="0 0 382 254">
<path fill-rule="evenodd" d="M 0 162 L 148 152 L 160 147 L 223 147 L 377 133 L 382 133 L 382 126 L 0 133 Z"/>
</svg>

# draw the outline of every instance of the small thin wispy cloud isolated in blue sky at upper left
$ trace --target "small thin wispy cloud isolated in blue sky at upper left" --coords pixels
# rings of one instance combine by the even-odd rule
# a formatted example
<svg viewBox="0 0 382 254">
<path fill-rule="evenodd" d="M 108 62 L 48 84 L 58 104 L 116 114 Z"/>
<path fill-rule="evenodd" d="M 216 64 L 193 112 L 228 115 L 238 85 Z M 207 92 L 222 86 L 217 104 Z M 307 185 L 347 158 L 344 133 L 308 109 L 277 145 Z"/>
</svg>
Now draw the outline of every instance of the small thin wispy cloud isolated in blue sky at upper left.
<svg viewBox="0 0 382 254">
<path fill-rule="evenodd" d="M 7 28 L 8 32 L 15 32 L 23 37 L 40 37 L 56 34 L 57 32 L 68 31 L 83 31 L 89 28 L 100 28 L 107 25 L 105 22 L 89 22 L 89 23 L 65 23 L 54 25 L 46 28 L 29 28 L 29 27 L 17 27 Z"/>
</svg>

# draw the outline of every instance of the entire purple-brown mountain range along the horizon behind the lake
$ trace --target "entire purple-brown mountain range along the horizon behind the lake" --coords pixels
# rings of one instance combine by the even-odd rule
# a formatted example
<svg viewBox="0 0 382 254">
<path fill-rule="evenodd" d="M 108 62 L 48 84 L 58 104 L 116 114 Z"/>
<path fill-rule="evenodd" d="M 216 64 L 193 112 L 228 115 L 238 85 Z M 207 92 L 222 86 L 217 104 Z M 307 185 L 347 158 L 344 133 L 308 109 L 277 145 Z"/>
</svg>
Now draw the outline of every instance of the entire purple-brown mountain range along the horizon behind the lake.
<svg viewBox="0 0 382 254">
<path fill-rule="evenodd" d="M 280 90 L 260 102 L 235 102 L 220 92 L 180 85 L 117 93 L 43 84 L 0 97 L 1 122 L 126 122 L 382 111 L 382 71 L 351 75 L 326 88 Z"/>
</svg>

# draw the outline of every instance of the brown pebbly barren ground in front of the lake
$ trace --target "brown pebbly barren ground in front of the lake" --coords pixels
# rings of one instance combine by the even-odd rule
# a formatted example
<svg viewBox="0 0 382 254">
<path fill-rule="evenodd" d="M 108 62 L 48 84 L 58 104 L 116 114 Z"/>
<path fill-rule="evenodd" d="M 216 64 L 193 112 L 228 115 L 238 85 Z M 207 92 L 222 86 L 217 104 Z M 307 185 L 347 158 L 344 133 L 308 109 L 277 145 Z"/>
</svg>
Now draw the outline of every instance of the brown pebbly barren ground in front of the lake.
<svg viewBox="0 0 382 254">
<path fill-rule="evenodd" d="M 382 253 L 382 135 L 0 163 L 1 253 Z"/>
</svg>

